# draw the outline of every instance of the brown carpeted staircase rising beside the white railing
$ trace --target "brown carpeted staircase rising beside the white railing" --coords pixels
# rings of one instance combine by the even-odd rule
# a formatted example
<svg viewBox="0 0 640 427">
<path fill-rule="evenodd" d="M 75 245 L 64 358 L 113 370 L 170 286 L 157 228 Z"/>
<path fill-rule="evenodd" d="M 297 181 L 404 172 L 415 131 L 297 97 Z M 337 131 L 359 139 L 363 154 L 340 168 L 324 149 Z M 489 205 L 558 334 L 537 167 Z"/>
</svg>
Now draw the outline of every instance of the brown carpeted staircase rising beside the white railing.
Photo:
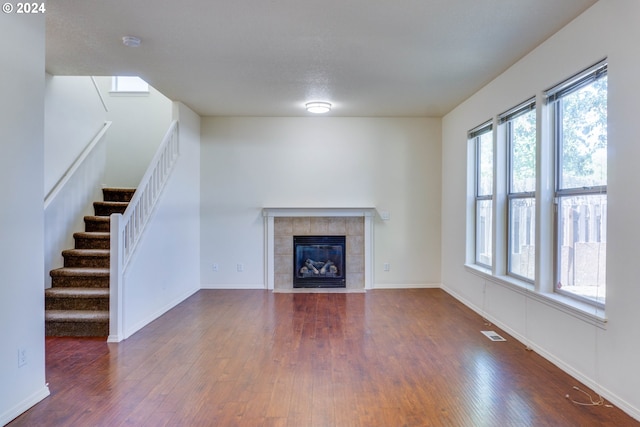
<svg viewBox="0 0 640 427">
<path fill-rule="evenodd" d="M 123 213 L 135 189 L 104 188 L 85 231 L 74 233 L 75 248 L 62 251 L 64 267 L 51 270 L 45 290 L 47 336 L 109 335 L 109 216 Z"/>
</svg>

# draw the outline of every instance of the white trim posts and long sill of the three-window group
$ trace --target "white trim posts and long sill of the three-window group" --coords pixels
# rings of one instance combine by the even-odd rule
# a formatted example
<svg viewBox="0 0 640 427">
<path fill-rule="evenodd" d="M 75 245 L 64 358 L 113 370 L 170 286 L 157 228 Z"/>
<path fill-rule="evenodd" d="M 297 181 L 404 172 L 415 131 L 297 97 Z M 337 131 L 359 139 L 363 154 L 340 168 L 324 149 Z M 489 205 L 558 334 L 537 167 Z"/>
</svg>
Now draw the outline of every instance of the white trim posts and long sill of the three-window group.
<svg viewBox="0 0 640 427">
<path fill-rule="evenodd" d="M 475 143 L 468 144 L 467 165 L 467 245 L 465 270 L 488 282 L 502 286 L 511 291 L 525 295 L 533 301 L 545 304 L 551 308 L 564 312 L 576 319 L 594 325 L 600 329 L 607 328 L 605 306 L 584 302 L 571 296 L 555 292 L 554 271 L 554 196 L 555 196 L 555 144 L 553 141 L 553 129 L 551 108 L 546 102 L 546 91 L 540 91 L 535 97 L 537 156 L 536 156 L 536 280 L 530 283 L 517 277 L 509 276 L 506 272 L 506 218 L 504 213 L 504 200 L 506 199 L 506 183 L 500 162 L 506 162 L 502 139 L 504 135 L 499 131 L 499 115 L 494 115 L 494 193 L 493 193 L 493 266 L 487 268 L 475 263 L 475 203 L 476 203 L 476 171 L 475 171 Z M 487 122 L 485 122 L 487 123 Z M 483 126 L 483 125 L 481 125 Z M 477 130 L 474 128 L 469 133 Z M 470 141 L 469 134 L 467 141 Z M 504 227 L 501 224 L 505 224 Z M 500 225 L 500 226 L 499 226 Z M 500 244 L 496 244 L 501 242 Z M 549 250 L 543 250 L 548 248 Z"/>
</svg>

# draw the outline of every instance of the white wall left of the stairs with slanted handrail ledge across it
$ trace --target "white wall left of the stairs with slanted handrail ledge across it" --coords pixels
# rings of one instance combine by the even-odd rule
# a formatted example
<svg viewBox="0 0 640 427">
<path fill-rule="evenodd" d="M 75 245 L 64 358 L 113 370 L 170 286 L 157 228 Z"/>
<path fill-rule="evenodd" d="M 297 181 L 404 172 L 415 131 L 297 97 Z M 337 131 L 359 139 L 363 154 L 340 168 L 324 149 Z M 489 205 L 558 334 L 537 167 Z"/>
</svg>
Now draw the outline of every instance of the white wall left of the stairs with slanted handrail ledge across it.
<svg viewBox="0 0 640 427">
<path fill-rule="evenodd" d="M 44 105 L 44 287 L 50 287 L 49 271 L 62 267 L 62 250 L 73 247 L 73 233 L 84 230 L 83 217 L 93 215 L 93 202 L 102 199 L 105 138 L 84 150 L 108 126 L 91 77 L 47 74 Z M 82 164 L 70 170 L 79 156 Z"/>
</svg>

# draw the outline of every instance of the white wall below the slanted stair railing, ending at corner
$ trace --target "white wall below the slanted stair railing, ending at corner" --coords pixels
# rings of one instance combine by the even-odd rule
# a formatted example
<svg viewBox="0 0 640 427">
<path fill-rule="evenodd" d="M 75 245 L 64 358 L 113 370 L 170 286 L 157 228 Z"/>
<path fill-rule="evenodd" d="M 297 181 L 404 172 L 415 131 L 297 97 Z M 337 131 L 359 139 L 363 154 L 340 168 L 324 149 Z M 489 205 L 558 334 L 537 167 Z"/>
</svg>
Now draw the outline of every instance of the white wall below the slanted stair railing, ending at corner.
<svg viewBox="0 0 640 427">
<path fill-rule="evenodd" d="M 200 289 L 200 117 L 173 114 L 180 157 L 124 272 L 125 338 Z"/>
</svg>

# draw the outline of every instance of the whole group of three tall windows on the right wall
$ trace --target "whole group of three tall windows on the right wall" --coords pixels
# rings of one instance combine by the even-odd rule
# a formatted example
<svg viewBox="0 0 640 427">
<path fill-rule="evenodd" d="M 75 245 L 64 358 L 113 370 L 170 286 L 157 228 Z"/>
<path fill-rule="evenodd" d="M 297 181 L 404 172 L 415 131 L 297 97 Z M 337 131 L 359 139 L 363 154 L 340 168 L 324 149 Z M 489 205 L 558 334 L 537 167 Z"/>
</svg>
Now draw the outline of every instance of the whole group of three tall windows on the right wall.
<svg viewBox="0 0 640 427">
<path fill-rule="evenodd" d="M 604 308 L 607 82 L 603 60 L 468 132 L 471 271 Z"/>
</svg>

